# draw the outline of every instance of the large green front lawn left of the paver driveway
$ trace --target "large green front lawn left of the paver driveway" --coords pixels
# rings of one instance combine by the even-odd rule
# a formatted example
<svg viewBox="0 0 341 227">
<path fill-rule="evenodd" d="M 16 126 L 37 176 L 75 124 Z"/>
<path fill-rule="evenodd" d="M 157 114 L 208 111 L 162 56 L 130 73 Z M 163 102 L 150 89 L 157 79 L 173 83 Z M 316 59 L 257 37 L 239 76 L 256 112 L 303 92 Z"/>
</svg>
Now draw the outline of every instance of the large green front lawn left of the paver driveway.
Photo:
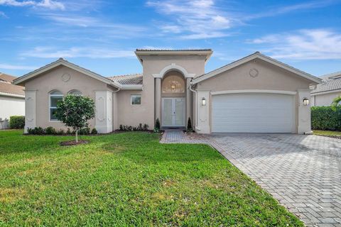
<svg viewBox="0 0 341 227">
<path fill-rule="evenodd" d="M 303 226 L 207 145 L 0 131 L 0 226 Z"/>
</svg>

